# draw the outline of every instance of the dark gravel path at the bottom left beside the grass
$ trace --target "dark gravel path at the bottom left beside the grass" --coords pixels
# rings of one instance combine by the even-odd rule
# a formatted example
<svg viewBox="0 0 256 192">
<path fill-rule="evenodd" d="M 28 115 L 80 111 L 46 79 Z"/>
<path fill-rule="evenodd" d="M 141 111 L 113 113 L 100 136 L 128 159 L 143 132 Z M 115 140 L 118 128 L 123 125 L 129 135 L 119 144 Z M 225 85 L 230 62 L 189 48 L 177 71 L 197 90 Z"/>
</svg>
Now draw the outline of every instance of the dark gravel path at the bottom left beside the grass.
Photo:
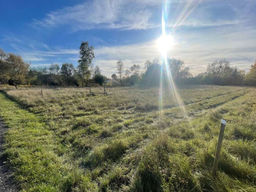
<svg viewBox="0 0 256 192">
<path fill-rule="evenodd" d="M 18 185 L 14 182 L 13 172 L 8 164 L 4 163 L 7 159 L 2 156 L 4 145 L 4 133 L 8 127 L 5 126 L 0 117 L 0 192 L 18 192 Z"/>
</svg>

